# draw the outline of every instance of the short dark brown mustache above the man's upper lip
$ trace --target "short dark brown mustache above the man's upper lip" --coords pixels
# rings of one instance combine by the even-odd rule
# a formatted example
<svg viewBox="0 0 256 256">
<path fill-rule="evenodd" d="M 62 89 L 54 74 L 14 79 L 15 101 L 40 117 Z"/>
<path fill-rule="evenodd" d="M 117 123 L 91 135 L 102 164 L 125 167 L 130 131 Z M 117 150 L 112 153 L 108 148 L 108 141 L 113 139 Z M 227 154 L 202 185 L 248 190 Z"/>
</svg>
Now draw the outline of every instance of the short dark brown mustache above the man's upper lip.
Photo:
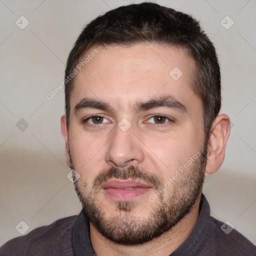
<svg viewBox="0 0 256 256">
<path fill-rule="evenodd" d="M 98 173 L 93 180 L 93 188 L 96 190 L 100 189 L 102 184 L 110 178 L 142 180 L 156 190 L 164 183 L 162 178 L 158 175 L 154 173 L 146 173 L 138 167 L 129 165 L 125 168 L 110 167 L 108 170 Z"/>
</svg>

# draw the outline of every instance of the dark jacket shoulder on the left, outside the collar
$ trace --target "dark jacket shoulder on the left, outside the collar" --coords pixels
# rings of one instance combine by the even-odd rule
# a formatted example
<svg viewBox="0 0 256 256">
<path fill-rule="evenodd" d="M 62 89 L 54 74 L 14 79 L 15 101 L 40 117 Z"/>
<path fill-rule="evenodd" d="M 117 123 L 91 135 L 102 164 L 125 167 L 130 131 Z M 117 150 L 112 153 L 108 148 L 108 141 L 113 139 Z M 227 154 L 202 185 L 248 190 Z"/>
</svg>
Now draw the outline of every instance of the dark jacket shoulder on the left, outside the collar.
<svg viewBox="0 0 256 256">
<path fill-rule="evenodd" d="M 52 250 L 67 252 L 72 247 L 71 232 L 75 219 L 76 215 L 64 217 L 15 237 L 0 247 L 0 256 L 47 255 Z"/>
</svg>

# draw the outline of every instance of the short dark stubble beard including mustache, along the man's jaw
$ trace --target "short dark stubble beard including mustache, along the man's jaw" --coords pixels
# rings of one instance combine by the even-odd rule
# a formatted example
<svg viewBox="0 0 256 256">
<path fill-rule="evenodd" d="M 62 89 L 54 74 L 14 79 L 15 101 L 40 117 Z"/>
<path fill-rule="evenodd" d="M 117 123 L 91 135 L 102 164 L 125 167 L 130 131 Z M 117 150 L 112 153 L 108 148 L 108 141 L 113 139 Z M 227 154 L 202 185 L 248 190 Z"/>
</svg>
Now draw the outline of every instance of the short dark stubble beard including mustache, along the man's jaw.
<svg viewBox="0 0 256 256">
<path fill-rule="evenodd" d="M 75 169 L 70 150 L 69 156 L 70 167 Z M 168 192 L 166 189 L 154 202 L 148 200 L 152 210 L 144 219 L 133 212 L 140 207 L 137 200 L 115 202 L 116 212 L 107 216 L 108 210 L 97 198 L 102 183 L 113 177 L 139 179 L 151 185 L 155 192 L 160 191 L 164 182 L 159 176 L 148 174 L 133 165 L 126 168 L 111 167 L 100 172 L 94 178 L 92 188 L 86 183 L 80 183 L 78 179 L 74 182 L 75 191 L 82 203 L 83 212 L 101 235 L 117 244 L 142 244 L 170 231 L 191 211 L 201 195 L 206 156 L 206 150 L 203 149 L 193 164 L 171 184 L 174 186 L 171 193 L 163 196 Z"/>
</svg>

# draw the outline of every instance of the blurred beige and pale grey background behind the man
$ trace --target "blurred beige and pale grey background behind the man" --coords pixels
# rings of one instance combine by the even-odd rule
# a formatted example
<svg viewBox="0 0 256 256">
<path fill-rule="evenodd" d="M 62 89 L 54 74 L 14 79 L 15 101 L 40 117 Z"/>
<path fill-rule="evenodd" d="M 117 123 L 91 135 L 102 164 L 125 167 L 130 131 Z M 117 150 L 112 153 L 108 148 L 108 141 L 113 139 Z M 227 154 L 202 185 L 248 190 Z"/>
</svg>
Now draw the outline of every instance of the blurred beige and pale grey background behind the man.
<svg viewBox="0 0 256 256">
<path fill-rule="evenodd" d="M 67 55 L 84 24 L 131 2 L 141 1 L 0 0 L 0 244 L 25 230 L 20 221 L 27 233 L 80 211 L 66 177 L 60 133 L 64 91 L 51 100 L 46 95 L 62 82 Z M 204 194 L 213 216 L 228 220 L 256 244 L 256 1 L 156 2 L 191 13 L 215 43 L 221 112 L 233 127 L 224 163 L 206 177 Z M 24 29 L 15 24 L 21 15 L 29 21 Z M 232 22 L 223 19 L 227 15 L 234 21 L 229 29 L 222 26 Z"/>
</svg>

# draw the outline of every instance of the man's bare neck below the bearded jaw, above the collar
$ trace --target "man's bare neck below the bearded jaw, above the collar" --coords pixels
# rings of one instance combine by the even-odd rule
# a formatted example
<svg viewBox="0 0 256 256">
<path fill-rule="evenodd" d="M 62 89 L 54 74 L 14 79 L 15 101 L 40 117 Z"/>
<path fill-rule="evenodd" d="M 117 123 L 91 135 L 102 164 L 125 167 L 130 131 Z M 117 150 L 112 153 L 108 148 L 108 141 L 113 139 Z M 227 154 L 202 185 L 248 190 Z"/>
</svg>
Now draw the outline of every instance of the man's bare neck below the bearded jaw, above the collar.
<svg viewBox="0 0 256 256">
<path fill-rule="evenodd" d="M 182 218 L 171 230 L 163 233 L 146 243 L 139 245 L 116 244 L 102 236 L 90 223 L 90 239 L 94 251 L 98 256 L 144 256 L 169 255 L 181 245 L 192 231 L 199 213 L 200 196 L 196 200 L 191 211 Z"/>
</svg>

